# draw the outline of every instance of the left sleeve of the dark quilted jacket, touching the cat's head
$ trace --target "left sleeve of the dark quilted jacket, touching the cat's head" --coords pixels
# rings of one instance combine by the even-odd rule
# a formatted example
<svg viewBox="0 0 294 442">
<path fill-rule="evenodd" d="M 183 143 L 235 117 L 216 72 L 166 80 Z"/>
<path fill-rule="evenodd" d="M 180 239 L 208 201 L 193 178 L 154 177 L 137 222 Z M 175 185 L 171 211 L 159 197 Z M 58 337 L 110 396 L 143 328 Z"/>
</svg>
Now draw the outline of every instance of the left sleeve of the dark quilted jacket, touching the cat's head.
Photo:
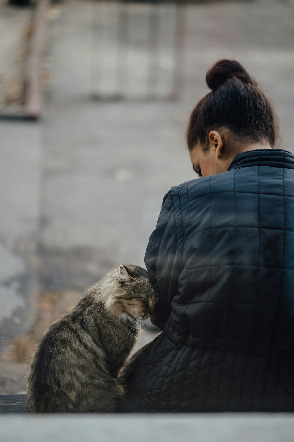
<svg viewBox="0 0 294 442">
<path fill-rule="evenodd" d="M 145 253 L 145 266 L 160 298 L 151 321 L 161 330 L 171 313 L 171 301 L 178 292 L 179 261 L 175 206 L 169 191 L 164 197 L 156 229 L 149 238 Z"/>
</svg>

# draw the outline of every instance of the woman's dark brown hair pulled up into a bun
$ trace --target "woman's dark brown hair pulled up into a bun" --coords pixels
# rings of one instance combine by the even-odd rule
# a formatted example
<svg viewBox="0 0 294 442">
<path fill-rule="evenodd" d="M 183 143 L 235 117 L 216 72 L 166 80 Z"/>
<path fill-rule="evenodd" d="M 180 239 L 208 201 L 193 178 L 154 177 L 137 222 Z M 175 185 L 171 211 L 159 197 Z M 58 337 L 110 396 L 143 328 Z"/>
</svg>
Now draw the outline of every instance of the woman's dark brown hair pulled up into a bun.
<svg viewBox="0 0 294 442">
<path fill-rule="evenodd" d="M 242 142 L 268 141 L 275 145 L 278 124 L 272 106 L 256 81 L 238 61 L 220 60 L 206 74 L 212 89 L 192 111 L 188 148 L 208 145 L 208 133 L 225 127 Z"/>
</svg>

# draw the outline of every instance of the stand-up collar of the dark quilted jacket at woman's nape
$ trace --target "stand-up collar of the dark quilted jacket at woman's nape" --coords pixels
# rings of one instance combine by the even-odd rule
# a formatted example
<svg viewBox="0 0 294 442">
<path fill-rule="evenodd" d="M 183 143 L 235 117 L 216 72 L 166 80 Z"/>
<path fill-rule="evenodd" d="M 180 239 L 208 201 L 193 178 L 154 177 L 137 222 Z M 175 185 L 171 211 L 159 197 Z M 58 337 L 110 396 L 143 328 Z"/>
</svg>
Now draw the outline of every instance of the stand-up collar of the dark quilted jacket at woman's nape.
<svg viewBox="0 0 294 442">
<path fill-rule="evenodd" d="M 294 169 L 294 155 L 283 149 L 249 150 L 236 155 L 228 170 L 253 166 Z"/>
</svg>

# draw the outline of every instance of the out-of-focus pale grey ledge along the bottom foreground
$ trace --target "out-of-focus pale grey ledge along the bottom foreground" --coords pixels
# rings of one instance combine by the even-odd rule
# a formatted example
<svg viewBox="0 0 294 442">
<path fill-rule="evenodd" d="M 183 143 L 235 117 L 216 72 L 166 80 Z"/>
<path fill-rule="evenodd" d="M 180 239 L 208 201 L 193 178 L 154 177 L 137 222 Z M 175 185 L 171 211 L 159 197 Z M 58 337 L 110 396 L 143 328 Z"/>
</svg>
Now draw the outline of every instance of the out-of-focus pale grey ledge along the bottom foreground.
<svg viewBox="0 0 294 442">
<path fill-rule="evenodd" d="M 272 413 L 0 416 L 1 442 L 292 442 L 293 431 L 291 414 Z"/>
</svg>

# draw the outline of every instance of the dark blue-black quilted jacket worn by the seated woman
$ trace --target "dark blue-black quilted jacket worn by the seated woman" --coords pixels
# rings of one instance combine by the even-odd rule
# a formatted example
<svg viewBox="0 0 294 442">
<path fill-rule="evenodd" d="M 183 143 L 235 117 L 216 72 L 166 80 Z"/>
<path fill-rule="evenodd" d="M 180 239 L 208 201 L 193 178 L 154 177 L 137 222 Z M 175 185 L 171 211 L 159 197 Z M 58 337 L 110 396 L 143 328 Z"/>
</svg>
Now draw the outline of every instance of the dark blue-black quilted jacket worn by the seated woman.
<svg viewBox="0 0 294 442">
<path fill-rule="evenodd" d="M 120 411 L 294 411 L 294 155 L 241 153 L 172 187 L 145 264 L 163 333 Z"/>
</svg>

